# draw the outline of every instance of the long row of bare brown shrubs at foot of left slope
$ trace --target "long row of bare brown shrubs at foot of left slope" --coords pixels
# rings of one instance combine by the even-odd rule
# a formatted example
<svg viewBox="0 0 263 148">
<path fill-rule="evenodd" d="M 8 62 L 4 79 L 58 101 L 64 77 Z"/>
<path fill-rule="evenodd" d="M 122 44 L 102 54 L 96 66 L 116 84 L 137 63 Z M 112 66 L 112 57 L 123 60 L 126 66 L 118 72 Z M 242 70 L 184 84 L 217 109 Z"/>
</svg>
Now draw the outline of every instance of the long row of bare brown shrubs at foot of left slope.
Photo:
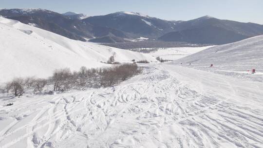
<svg viewBox="0 0 263 148">
<path fill-rule="evenodd" d="M 87 88 L 110 87 L 140 74 L 142 68 L 137 64 L 121 64 L 112 67 L 87 69 L 81 67 L 78 72 L 71 72 L 69 68 L 55 70 L 48 79 L 34 77 L 14 78 L 5 86 L 6 92 L 20 97 L 24 92 L 42 93 L 45 86 L 52 86 L 52 91 L 84 90 Z M 51 91 L 51 90 L 47 90 Z"/>
</svg>

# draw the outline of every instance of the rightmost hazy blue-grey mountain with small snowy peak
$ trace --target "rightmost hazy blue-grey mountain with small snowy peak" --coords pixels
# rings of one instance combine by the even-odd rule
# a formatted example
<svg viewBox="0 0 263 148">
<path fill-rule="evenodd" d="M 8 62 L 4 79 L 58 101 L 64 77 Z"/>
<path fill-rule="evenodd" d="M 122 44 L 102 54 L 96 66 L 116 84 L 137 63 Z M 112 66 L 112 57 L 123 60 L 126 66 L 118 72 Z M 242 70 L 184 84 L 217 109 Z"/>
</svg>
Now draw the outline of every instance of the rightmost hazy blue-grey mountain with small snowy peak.
<svg viewBox="0 0 263 148">
<path fill-rule="evenodd" d="M 174 32 L 161 37 L 164 41 L 184 41 L 201 44 L 226 44 L 263 35 L 263 25 L 204 16 L 176 23 Z"/>
</svg>

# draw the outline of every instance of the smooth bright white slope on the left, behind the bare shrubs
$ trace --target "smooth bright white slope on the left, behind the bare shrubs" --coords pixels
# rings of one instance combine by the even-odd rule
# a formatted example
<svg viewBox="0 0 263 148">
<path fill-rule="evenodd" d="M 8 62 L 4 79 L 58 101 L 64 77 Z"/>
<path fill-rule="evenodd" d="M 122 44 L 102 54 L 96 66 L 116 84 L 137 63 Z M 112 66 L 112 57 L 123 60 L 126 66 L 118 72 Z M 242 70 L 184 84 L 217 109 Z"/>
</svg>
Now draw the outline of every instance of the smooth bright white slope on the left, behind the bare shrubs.
<svg viewBox="0 0 263 148">
<path fill-rule="evenodd" d="M 155 61 L 146 54 L 72 40 L 0 17 L 0 82 L 14 76 L 46 77 L 57 68 L 105 66 L 100 61 L 106 62 L 113 54 L 119 62 Z"/>
</svg>

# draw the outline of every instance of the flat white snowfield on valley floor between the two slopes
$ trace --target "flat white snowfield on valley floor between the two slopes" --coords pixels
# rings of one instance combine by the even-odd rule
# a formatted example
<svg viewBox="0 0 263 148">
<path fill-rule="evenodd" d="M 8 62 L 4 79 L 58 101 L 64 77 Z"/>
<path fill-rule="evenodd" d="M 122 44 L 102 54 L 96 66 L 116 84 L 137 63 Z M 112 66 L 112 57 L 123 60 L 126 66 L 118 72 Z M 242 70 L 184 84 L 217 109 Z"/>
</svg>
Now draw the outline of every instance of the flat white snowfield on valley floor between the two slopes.
<svg viewBox="0 0 263 148">
<path fill-rule="evenodd" d="M 189 56 L 191 54 L 200 52 L 212 46 L 204 46 L 204 47 L 172 47 L 159 49 L 156 52 L 150 53 L 149 55 L 157 57 L 160 56 L 163 59 L 167 60 L 176 60 L 185 56 Z"/>
</svg>

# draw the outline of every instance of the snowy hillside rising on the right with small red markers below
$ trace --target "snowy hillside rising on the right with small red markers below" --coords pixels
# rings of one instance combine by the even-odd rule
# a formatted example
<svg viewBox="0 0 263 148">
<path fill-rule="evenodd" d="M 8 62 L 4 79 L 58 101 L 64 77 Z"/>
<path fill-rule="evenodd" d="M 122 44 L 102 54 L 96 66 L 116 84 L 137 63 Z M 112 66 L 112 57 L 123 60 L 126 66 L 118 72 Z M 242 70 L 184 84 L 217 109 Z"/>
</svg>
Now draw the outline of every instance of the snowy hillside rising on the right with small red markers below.
<svg viewBox="0 0 263 148">
<path fill-rule="evenodd" d="M 263 36 L 251 37 L 238 42 L 208 48 L 196 54 L 178 59 L 183 63 L 201 70 L 236 75 L 263 81 Z M 209 67 L 213 64 L 213 67 Z M 251 75 L 251 70 L 256 74 Z"/>
</svg>

